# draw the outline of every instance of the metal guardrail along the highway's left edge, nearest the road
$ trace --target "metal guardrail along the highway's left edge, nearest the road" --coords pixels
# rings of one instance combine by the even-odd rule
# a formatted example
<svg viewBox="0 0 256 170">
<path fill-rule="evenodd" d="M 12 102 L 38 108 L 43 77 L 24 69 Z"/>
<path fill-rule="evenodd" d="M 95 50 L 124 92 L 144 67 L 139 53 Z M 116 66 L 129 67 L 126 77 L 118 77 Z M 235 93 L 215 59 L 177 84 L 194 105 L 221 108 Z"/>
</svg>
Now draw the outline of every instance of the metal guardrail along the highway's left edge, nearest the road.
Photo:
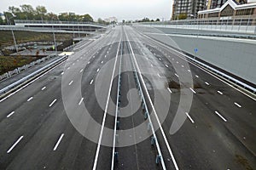
<svg viewBox="0 0 256 170">
<path fill-rule="evenodd" d="M 6 92 L 8 92 L 10 89 L 15 88 L 16 86 L 20 85 L 22 82 L 26 82 L 27 80 L 29 80 L 30 78 L 36 76 L 38 73 L 48 69 L 50 66 L 55 65 L 56 63 L 58 63 L 59 61 L 61 61 L 62 59 L 65 59 L 67 56 L 64 55 L 62 56 L 60 59 L 56 59 L 55 61 L 49 63 L 48 65 L 45 65 L 44 67 L 38 69 L 38 71 L 34 71 L 31 74 L 29 74 L 26 77 L 21 78 L 20 80 L 18 80 L 17 82 L 14 82 L 12 84 L 10 84 L 9 86 L 3 88 L 0 90 L 0 94 L 5 94 Z"/>
</svg>

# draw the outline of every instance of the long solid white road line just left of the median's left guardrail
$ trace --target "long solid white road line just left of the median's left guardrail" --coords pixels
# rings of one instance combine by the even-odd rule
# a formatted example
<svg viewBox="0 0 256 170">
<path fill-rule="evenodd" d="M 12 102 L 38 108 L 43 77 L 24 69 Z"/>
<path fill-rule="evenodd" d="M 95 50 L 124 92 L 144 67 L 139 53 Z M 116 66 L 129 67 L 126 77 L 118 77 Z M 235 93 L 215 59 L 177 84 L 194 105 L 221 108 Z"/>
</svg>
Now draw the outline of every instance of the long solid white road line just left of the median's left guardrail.
<svg viewBox="0 0 256 170">
<path fill-rule="evenodd" d="M 113 84 L 113 75 L 114 75 L 114 71 L 115 71 L 115 67 L 116 67 L 116 62 L 117 62 L 117 58 L 118 58 L 118 55 L 119 55 L 120 42 L 121 42 L 121 39 L 119 41 L 118 50 L 117 50 L 117 53 L 115 55 L 115 60 L 114 60 L 114 64 L 113 64 L 113 73 L 112 73 L 111 81 L 110 81 L 110 84 L 109 84 L 108 99 L 107 99 L 107 103 L 106 103 L 106 106 L 105 106 L 104 115 L 103 115 L 103 119 L 102 119 L 102 127 L 101 127 L 100 137 L 99 137 L 98 144 L 97 144 L 96 156 L 95 156 L 95 161 L 94 161 L 94 164 L 93 164 L 93 170 L 96 170 L 98 156 L 99 156 L 99 152 L 100 152 L 100 147 L 101 147 L 101 144 L 102 144 L 102 134 L 103 134 L 103 129 L 105 127 L 105 122 L 106 122 L 106 116 L 107 116 L 107 111 L 108 111 L 108 102 L 109 102 L 111 88 L 112 88 L 112 84 Z"/>
</svg>

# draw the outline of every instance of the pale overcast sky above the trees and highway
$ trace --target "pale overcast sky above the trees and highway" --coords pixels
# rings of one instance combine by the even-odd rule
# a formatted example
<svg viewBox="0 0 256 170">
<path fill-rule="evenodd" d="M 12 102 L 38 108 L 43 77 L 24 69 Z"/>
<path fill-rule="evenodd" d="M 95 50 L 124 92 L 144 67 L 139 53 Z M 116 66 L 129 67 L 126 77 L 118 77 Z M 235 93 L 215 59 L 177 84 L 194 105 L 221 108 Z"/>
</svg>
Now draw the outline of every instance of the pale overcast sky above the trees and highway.
<svg viewBox="0 0 256 170">
<path fill-rule="evenodd" d="M 48 12 L 55 14 L 74 12 L 90 14 L 94 20 L 115 16 L 121 20 L 149 19 L 170 20 L 172 0 L 0 0 L 0 12 L 9 6 L 20 7 L 30 4 L 33 8 L 43 5 Z"/>
</svg>

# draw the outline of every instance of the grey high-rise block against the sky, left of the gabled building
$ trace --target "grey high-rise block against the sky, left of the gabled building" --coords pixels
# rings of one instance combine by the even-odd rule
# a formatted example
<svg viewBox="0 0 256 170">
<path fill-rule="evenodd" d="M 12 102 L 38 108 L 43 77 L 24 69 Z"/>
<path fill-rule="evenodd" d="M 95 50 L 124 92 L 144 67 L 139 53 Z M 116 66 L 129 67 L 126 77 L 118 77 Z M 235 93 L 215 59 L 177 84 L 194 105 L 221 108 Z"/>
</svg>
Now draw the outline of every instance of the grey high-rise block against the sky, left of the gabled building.
<svg viewBox="0 0 256 170">
<path fill-rule="evenodd" d="M 206 8 L 207 0 L 174 0 L 172 20 L 196 18 L 197 12 Z"/>
</svg>

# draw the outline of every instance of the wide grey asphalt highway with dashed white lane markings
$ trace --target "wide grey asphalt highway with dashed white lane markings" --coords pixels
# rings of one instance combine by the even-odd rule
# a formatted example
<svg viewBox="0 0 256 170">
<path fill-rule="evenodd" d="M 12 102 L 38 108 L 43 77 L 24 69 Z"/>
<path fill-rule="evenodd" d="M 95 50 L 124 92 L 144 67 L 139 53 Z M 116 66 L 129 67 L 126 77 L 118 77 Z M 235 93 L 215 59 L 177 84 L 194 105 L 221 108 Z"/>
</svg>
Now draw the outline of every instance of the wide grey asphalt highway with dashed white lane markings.
<svg viewBox="0 0 256 170">
<path fill-rule="evenodd" d="M 0 100 L 0 169 L 256 168 L 256 99 L 132 26 L 73 49 Z"/>
</svg>

